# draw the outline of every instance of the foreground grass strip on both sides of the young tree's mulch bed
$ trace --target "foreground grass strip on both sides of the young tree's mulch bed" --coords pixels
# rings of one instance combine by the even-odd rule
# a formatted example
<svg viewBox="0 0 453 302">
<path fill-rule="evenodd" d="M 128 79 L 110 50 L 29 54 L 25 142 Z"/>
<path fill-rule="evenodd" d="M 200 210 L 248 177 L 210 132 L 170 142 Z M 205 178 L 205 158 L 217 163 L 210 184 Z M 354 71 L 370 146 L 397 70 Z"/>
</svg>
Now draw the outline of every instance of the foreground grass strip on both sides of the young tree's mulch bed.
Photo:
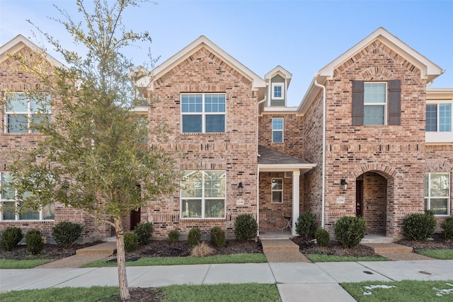
<svg viewBox="0 0 453 302">
<path fill-rule="evenodd" d="M 163 287 L 162 302 L 178 301 L 282 301 L 275 284 L 216 284 L 216 285 L 171 285 Z M 33 289 L 0 293 L 0 301 L 57 302 L 57 301 L 120 301 L 120 291 L 113 286 L 90 288 Z"/>
</svg>

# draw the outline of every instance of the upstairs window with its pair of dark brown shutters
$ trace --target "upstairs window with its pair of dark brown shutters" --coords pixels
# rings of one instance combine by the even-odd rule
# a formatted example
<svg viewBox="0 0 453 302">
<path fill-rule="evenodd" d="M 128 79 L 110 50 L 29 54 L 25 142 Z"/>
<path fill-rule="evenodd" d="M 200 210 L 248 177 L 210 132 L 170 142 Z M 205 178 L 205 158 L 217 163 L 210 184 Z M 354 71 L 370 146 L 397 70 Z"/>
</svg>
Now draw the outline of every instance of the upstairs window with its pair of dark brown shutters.
<svg viewBox="0 0 453 302">
<path fill-rule="evenodd" d="M 401 81 L 352 81 L 352 125 L 401 124 Z"/>
</svg>

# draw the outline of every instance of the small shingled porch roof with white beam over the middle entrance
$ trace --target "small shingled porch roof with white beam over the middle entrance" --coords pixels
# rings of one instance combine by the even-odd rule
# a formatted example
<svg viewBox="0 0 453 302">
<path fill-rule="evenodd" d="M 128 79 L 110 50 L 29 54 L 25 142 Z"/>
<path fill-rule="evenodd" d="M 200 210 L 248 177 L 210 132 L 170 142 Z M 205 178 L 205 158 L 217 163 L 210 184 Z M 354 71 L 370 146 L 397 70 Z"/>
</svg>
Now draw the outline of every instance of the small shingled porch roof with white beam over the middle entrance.
<svg viewBox="0 0 453 302">
<path fill-rule="evenodd" d="M 258 168 L 260 171 L 292 171 L 299 169 L 301 173 L 316 167 L 316 163 L 309 163 L 302 159 L 289 156 L 265 146 L 258 146 Z"/>
</svg>

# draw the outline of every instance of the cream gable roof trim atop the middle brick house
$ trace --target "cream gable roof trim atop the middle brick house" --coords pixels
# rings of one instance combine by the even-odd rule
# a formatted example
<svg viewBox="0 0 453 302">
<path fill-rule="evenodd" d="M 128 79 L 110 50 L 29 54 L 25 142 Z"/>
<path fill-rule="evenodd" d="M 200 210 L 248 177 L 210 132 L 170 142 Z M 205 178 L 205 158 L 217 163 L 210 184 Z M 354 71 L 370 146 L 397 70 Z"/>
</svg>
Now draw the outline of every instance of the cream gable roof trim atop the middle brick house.
<svg viewBox="0 0 453 302">
<path fill-rule="evenodd" d="M 200 50 L 202 47 L 206 47 L 207 50 L 210 50 L 210 52 L 214 53 L 217 57 L 222 59 L 222 61 L 226 62 L 226 64 L 234 67 L 234 69 L 236 69 L 237 71 L 239 71 L 239 73 L 249 79 L 252 82 L 253 89 L 258 90 L 258 88 L 265 88 L 265 81 L 261 79 L 260 76 L 253 73 L 253 71 L 241 64 L 241 62 L 224 52 L 224 50 L 215 45 L 204 35 L 201 35 L 197 38 L 197 40 L 184 47 L 183 50 L 180 50 L 178 53 L 173 55 L 173 57 L 167 59 L 164 63 L 157 66 L 152 72 L 153 79 L 159 79 L 160 76 L 166 74 L 168 71 L 180 64 L 180 62 L 183 62 L 185 59 Z"/>
</svg>

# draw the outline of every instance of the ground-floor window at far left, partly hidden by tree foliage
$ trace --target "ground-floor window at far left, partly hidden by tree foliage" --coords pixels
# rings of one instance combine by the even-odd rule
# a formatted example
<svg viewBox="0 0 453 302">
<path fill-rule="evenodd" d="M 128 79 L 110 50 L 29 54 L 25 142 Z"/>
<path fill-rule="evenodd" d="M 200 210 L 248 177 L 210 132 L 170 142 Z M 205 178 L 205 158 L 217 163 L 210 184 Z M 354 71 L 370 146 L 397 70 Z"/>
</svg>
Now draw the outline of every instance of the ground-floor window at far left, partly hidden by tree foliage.
<svg viewBox="0 0 453 302">
<path fill-rule="evenodd" d="M 21 211 L 20 202 L 17 201 L 16 191 L 11 187 L 11 177 L 9 173 L 1 173 L 1 208 L 0 221 L 34 221 L 34 220 L 54 220 L 54 204 L 47 204 L 40 210 Z"/>
</svg>

